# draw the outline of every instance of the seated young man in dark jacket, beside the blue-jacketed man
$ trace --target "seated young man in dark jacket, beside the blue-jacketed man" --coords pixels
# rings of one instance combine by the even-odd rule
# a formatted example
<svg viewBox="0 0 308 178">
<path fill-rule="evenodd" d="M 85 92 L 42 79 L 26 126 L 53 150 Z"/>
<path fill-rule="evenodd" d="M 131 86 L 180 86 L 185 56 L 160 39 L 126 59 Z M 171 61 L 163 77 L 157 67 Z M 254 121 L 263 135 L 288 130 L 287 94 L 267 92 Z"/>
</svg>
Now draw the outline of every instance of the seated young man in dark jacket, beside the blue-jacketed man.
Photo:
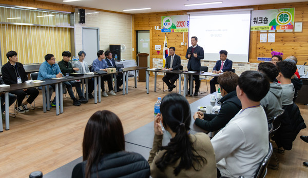
<svg viewBox="0 0 308 178">
<path fill-rule="evenodd" d="M 69 74 L 73 73 L 75 71 L 78 71 L 79 68 L 72 67 L 72 64 L 69 62 L 71 58 L 71 53 L 69 51 L 63 51 L 62 52 L 62 57 L 63 60 L 58 63 L 60 70 L 64 74 Z M 70 96 L 70 98 L 73 100 L 73 105 L 74 106 L 80 106 L 81 103 L 88 103 L 88 100 L 83 96 L 83 93 L 81 91 L 80 83 L 76 81 L 68 81 L 68 82 L 63 82 L 63 84 L 66 86 L 67 92 Z M 76 91 L 79 96 L 79 100 L 75 98 L 74 92 L 73 92 L 73 87 L 76 88 Z"/>
</svg>

